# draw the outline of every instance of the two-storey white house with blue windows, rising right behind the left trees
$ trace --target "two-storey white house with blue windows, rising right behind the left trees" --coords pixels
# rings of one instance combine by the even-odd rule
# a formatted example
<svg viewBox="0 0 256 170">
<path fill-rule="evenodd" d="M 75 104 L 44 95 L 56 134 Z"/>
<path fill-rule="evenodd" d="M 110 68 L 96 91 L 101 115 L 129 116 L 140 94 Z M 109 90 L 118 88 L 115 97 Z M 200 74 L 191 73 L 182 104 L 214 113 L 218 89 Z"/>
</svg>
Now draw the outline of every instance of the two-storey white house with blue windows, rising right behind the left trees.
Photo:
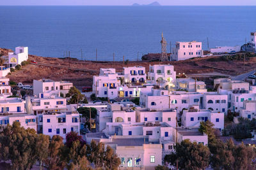
<svg viewBox="0 0 256 170">
<path fill-rule="evenodd" d="M 49 135 L 59 135 L 66 139 L 68 132 L 77 132 L 80 134 L 80 118 L 77 111 L 66 112 L 48 112 L 38 115 L 38 131 Z"/>
</svg>

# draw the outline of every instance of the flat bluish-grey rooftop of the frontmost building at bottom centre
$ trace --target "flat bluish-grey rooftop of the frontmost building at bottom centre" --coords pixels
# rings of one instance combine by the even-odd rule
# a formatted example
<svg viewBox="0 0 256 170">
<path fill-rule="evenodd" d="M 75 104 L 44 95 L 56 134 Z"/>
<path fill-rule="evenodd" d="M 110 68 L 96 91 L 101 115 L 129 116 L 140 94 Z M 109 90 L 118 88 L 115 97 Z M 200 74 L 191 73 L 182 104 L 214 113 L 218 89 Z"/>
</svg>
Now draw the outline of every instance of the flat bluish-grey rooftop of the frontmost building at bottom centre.
<svg viewBox="0 0 256 170">
<path fill-rule="evenodd" d="M 148 143 L 148 138 L 122 138 L 122 139 L 113 138 L 112 142 L 108 142 L 105 144 L 118 145 L 118 146 L 143 146 L 143 144 L 149 144 L 149 143 Z"/>
</svg>

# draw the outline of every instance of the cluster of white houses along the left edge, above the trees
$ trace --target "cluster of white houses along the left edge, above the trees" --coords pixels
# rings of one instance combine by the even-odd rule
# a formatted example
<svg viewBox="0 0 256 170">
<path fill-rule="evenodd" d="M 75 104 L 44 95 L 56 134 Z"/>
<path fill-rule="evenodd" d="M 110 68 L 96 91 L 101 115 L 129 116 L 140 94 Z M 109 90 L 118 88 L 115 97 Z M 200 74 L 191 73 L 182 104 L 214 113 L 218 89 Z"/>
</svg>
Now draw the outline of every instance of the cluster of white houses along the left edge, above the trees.
<svg viewBox="0 0 256 170">
<path fill-rule="evenodd" d="M 65 139 L 68 132 L 80 133 L 80 117 L 76 106 L 67 105 L 60 94 L 67 93 L 72 83 L 65 81 L 34 80 L 34 96 L 12 97 L 9 78 L 0 79 L 1 126 L 20 122 L 25 129 L 49 136 L 60 135 Z M 11 97 L 10 97 L 11 96 Z"/>
</svg>

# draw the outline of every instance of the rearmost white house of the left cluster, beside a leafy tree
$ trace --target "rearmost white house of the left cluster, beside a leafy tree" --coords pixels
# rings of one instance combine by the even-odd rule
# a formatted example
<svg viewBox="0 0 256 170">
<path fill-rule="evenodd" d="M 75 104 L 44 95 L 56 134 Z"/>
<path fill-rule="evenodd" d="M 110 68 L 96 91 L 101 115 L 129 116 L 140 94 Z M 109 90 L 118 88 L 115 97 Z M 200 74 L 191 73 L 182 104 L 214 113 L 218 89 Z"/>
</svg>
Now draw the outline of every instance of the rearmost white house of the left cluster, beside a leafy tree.
<svg viewBox="0 0 256 170">
<path fill-rule="evenodd" d="M 73 87 L 73 83 L 68 81 L 53 81 L 50 79 L 33 80 L 33 94 L 36 96 L 38 94 L 54 94 L 60 96 L 60 92 L 65 95 L 71 87 Z"/>
</svg>

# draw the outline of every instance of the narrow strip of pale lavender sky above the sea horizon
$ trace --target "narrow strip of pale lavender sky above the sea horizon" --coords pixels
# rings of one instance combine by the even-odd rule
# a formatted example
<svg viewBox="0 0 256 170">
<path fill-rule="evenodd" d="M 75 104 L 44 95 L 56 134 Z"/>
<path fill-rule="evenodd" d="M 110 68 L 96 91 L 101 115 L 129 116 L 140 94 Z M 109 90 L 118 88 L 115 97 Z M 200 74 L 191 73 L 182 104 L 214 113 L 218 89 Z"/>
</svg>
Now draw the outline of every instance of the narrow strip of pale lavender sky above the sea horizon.
<svg viewBox="0 0 256 170">
<path fill-rule="evenodd" d="M 0 0 L 0 5 L 131 5 L 156 0 Z M 161 5 L 255 6 L 256 0 L 158 0 Z"/>
</svg>

